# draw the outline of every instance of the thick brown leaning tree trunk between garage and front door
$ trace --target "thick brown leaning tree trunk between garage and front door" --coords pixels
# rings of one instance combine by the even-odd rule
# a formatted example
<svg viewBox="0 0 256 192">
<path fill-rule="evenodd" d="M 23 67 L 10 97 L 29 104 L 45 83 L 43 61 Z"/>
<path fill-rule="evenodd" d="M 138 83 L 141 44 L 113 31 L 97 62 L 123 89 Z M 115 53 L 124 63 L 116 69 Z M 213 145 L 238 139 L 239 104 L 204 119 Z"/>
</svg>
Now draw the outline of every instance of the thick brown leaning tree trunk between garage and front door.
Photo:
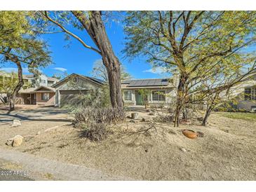
<svg viewBox="0 0 256 192">
<path fill-rule="evenodd" d="M 86 18 L 82 11 L 72 11 L 72 13 L 81 22 L 81 25 L 86 28 L 90 38 L 93 39 L 100 50 L 103 64 L 107 68 L 109 77 L 109 94 L 112 107 L 123 107 L 120 62 L 114 55 L 100 11 L 90 11 L 89 19 Z"/>
</svg>

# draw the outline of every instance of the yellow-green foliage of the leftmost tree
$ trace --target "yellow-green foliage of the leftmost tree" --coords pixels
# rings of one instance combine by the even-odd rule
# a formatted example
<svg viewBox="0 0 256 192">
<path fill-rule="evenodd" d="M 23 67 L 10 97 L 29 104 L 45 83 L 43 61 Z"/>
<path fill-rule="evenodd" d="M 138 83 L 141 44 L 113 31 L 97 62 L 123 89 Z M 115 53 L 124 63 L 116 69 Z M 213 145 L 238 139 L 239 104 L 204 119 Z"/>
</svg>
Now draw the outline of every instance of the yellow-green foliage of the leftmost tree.
<svg viewBox="0 0 256 192">
<path fill-rule="evenodd" d="M 48 46 L 35 32 L 39 26 L 33 12 L 0 11 L 0 26 L 0 55 L 4 61 L 15 57 L 29 69 L 50 64 Z"/>
</svg>

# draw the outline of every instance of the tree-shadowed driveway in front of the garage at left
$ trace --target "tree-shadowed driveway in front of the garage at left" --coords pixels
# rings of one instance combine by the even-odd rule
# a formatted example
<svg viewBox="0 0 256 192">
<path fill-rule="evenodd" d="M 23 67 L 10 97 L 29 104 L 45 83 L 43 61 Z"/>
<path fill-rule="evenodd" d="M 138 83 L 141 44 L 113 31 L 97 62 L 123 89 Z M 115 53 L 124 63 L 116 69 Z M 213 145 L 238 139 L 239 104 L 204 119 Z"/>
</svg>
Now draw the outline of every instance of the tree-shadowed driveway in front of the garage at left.
<svg viewBox="0 0 256 192">
<path fill-rule="evenodd" d="M 20 121 L 60 121 L 70 122 L 68 111 L 58 107 L 38 107 L 36 105 L 16 105 L 15 111 L 0 107 L 0 125 L 9 124 L 13 119 Z"/>
</svg>

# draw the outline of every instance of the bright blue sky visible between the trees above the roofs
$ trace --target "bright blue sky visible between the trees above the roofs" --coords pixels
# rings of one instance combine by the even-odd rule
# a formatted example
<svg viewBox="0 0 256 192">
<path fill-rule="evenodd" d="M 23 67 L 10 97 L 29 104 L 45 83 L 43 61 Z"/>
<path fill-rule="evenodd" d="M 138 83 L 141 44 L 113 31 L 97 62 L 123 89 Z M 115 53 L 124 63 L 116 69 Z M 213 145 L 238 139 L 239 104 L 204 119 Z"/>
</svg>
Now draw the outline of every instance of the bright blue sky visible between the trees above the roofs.
<svg viewBox="0 0 256 192">
<path fill-rule="evenodd" d="M 74 30 L 73 28 L 70 29 L 72 32 L 75 32 L 75 34 L 78 34 L 90 46 L 93 46 L 93 42 L 86 32 Z M 151 65 L 147 63 L 146 59 L 142 56 L 137 57 L 132 61 L 124 58 L 121 50 L 123 50 L 124 47 L 125 34 L 123 33 L 121 24 L 110 22 L 106 25 L 106 29 L 109 40 L 114 48 L 114 53 L 119 57 L 119 60 L 125 66 L 126 71 L 128 71 L 133 78 L 161 78 L 164 76 L 164 74 L 159 73 L 161 69 L 152 71 Z M 93 63 L 96 60 L 101 59 L 100 55 L 93 50 L 84 48 L 76 39 L 71 38 L 71 41 L 66 41 L 63 33 L 44 34 L 41 38 L 48 42 L 48 45 L 50 46 L 49 49 L 52 52 L 51 56 L 53 64 L 41 69 L 41 71 L 48 76 L 62 73 L 62 71 L 67 71 L 67 74 L 76 73 L 91 76 L 90 71 L 93 69 Z M 67 47 L 67 45 L 69 46 Z M 11 71 L 15 65 L 5 64 L 4 67 L 6 71 Z M 24 73 L 27 74 L 27 72 L 27 69 L 25 69 Z"/>
</svg>

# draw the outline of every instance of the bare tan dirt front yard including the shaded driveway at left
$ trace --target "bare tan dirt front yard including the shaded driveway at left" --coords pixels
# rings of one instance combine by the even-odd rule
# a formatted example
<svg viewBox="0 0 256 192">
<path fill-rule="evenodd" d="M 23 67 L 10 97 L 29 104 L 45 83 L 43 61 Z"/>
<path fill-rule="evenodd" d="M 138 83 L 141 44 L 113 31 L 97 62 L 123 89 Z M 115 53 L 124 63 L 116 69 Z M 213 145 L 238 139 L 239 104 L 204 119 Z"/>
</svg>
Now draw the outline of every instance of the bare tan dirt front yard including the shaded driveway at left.
<svg viewBox="0 0 256 192">
<path fill-rule="evenodd" d="M 173 123 L 154 123 L 154 116 L 147 112 L 139 115 L 146 121 L 127 119 L 113 126 L 114 134 L 108 139 L 94 143 L 72 127 L 66 111 L 19 109 L 6 115 L 0 110 L 0 148 L 139 180 L 256 179 L 256 121 L 216 113 L 206 128 L 197 121 L 173 128 Z M 13 118 L 20 116 L 22 125 L 12 127 Z M 155 128 L 146 131 L 150 122 Z M 204 137 L 188 139 L 182 135 L 184 128 L 201 131 Z M 33 137 L 21 146 L 6 146 L 6 140 L 15 135 Z"/>
</svg>

